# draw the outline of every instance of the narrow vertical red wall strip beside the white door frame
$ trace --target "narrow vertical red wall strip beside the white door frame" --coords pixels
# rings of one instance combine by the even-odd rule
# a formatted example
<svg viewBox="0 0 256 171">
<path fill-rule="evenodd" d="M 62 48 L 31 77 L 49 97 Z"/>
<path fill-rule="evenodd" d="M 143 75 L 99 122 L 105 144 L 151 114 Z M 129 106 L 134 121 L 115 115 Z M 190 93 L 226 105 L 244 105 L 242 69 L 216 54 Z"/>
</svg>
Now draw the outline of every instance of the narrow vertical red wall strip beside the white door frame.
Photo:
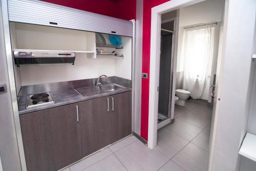
<svg viewBox="0 0 256 171">
<path fill-rule="evenodd" d="M 141 91 L 141 137 L 147 140 L 148 133 L 148 99 L 150 92 L 150 32 L 151 8 L 168 0 L 143 1 L 143 35 L 142 35 L 142 72 L 148 73 L 147 79 L 142 79 Z"/>
</svg>

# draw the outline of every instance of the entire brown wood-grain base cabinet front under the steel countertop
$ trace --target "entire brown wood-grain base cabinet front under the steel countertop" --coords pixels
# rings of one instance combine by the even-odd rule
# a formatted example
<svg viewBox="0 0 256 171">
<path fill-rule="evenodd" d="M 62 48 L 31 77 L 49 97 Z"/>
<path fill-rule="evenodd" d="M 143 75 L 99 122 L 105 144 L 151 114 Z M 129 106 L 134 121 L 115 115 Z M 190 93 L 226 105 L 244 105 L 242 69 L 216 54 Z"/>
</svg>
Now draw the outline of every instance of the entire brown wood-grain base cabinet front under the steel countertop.
<svg viewBox="0 0 256 171">
<path fill-rule="evenodd" d="M 20 115 L 27 169 L 58 170 L 132 134 L 132 93 Z"/>
</svg>

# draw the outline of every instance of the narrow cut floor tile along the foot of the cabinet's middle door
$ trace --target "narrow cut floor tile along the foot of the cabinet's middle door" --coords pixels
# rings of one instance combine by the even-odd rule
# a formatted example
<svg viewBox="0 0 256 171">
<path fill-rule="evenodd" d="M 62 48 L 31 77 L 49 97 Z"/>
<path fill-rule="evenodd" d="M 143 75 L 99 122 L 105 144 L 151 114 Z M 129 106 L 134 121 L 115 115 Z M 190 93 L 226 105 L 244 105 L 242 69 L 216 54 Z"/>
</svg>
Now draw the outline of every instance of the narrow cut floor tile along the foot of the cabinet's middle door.
<svg viewBox="0 0 256 171">
<path fill-rule="evenodd" d="M 84 168 L 89 167 L 90 165 L 100 161 L 101 159 L 103 159 L 105 157 L 110 156 L 111 154 L 113 154 L 111 149 L 109 147 L 105 148 L 102 151 L 73 164 L 72 166 L 70 166 L 70 170 L 71 171 L 83 170 Z"/>
</svg>

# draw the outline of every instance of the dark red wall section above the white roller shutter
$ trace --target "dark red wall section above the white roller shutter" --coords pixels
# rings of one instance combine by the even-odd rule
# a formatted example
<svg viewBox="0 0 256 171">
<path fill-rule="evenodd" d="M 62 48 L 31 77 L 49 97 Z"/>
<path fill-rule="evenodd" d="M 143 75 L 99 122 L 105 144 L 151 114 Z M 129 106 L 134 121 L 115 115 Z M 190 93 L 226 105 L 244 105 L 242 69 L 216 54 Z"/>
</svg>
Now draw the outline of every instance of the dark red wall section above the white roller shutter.
<svg viewBox="0 0 256 171">
<path fill-rule="evenodd" d="M 41 0 L 121 19 L 136 19 L 136 0 Z"/>
</svg>

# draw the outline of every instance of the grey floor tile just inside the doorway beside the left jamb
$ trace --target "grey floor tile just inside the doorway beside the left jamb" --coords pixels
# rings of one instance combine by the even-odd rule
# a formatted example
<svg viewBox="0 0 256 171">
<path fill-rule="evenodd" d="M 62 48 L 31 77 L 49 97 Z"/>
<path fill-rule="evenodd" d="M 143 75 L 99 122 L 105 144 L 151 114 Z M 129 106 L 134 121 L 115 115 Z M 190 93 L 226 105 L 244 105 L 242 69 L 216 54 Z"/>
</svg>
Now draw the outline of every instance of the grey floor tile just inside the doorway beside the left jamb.
<svg viewBox="0 0 256 171">
<path fill-rule="evenodd" d="M 167 129 L 158 131 L 157 147 L 159 152 L 167 156 L 169 159 L 174 157 L 189 141 L 172 133 Z"/>
</svg>

